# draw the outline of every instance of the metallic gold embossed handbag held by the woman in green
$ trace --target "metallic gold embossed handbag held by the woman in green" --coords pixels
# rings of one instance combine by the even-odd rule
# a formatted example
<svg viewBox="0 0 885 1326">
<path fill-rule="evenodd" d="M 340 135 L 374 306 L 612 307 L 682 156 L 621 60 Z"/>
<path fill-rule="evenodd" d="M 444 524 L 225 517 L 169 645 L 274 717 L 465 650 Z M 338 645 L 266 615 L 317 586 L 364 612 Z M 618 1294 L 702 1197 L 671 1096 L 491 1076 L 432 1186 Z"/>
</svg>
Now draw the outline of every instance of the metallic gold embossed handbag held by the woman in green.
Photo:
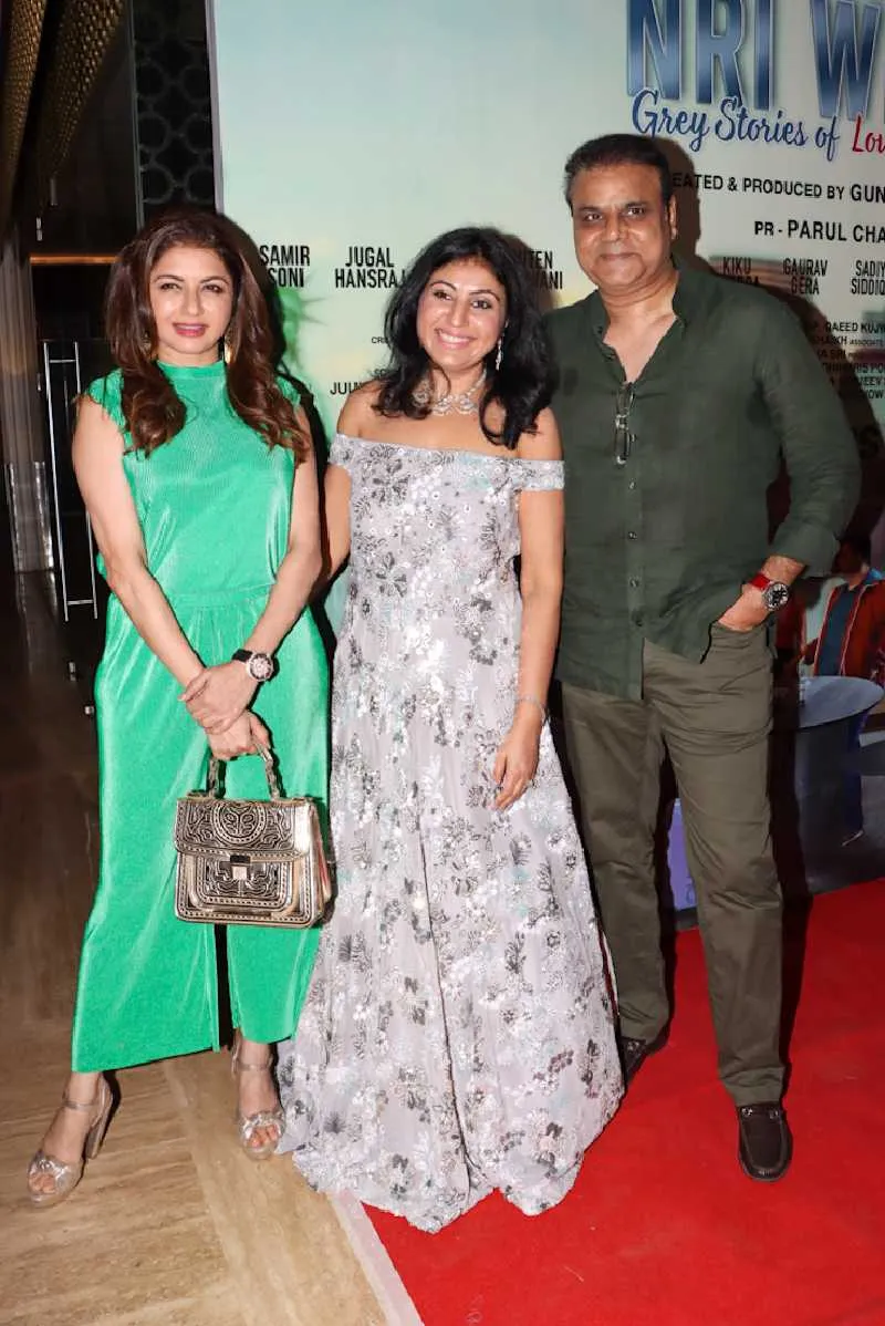
<svg viewBox="0 0 885 1326">
<path fill-rule="evenodd" d="M 309 797 L 284 797 L 273 754 L 258 748 L 269 801 L 221 794 L 219 761 L 205 792 L 180 797 L 175 813 L 175 914 L 216 926 L 287 926 L 322 920 L 331 878 L 319 815 Z"/>
</svg>

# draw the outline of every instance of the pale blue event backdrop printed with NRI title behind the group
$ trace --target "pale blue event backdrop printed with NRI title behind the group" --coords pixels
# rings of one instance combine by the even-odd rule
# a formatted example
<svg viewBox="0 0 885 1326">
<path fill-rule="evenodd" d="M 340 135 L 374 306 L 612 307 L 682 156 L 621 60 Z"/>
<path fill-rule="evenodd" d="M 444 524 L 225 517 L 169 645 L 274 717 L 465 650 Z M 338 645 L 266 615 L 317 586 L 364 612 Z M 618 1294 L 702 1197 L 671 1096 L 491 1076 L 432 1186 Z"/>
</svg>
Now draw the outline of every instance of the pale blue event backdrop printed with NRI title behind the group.
<svg viewBox="0 0 885 1326">
<path fill-rule="evenodd" d="M 261 247 L 326 427 L 449 227 L 587 293 L 568 152 L 669 141 L 680 243 L 792 297 L 870 455 L 885 416 L 885 0 L 209 0 L 219 204 Z"/>
</svg>

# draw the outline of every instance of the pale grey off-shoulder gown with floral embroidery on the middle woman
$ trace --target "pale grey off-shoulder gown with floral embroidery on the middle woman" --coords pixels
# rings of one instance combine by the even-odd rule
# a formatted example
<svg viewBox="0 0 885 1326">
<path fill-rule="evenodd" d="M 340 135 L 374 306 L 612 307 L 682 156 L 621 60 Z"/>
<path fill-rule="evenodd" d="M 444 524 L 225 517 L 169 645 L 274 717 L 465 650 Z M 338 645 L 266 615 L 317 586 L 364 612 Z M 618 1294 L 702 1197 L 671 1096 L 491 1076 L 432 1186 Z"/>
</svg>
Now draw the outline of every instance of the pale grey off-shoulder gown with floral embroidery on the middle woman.
<svg viewBox="0 0 885 1326">
<path fill-rule="evenodd" d="M 559 461 L 335 439 L 351 558 L 333 697 L 338 898 L 281 1150 L 322 1191 L 439 1229 L 494 1188 L 559 1201 L 621 1071 L 590 880 L 548 729 L 492 809 L 517 695 L 517 505 Z"/>
</svg>

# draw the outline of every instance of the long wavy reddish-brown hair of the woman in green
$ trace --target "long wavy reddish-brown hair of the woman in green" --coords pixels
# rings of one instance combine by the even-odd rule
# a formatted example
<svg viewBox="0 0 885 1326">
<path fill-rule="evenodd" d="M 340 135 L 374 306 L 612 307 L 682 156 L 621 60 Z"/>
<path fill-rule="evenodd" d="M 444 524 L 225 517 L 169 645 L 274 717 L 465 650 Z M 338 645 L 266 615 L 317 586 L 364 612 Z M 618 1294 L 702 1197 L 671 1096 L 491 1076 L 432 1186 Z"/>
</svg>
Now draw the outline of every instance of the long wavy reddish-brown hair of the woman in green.
<svg viewBox="0 0 885 1326">
<path fill-rule="evenodd" d="M 309 442 L 295 407 L 280 390 L 277 342 L 252 240 L 227 216 L 182 207 L 148 221 L 119 253 L 105 300 L 105 326 L 122 377 L 122 408 L 132 450 L 150 453 L 184 427 L 184 403 L 156 363 L 156 324 L 150 280 L 171 248 L 211 249 L 233 281 L 233 313 L 225 333 L 228 398 L 244 423 L 269 447 L 289 447 L 298 459 Z"/>
</svg>

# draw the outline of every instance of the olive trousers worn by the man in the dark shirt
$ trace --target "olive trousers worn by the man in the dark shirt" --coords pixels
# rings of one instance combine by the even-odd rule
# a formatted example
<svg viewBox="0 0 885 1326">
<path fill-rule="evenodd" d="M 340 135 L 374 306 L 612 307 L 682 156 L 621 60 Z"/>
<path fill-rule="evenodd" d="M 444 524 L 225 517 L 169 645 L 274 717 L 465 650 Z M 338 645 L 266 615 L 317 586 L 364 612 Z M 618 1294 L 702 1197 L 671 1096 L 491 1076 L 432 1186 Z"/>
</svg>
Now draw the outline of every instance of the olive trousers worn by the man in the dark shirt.
<svg viewBox="0 0 885 1326">
<path fill-rule="evenodd" d="M 651 1041 L 670 1012 L 654 883 L 666 745 L 697 894 L 719 1078 L 735 1105 L 778 1101 L 782 895 L 767 790 L 764 629 L 714 626 L 701 663 L 647 640 L 641 700 L 563 684 L 563 717 L 621 1034 Z"/>
</svg>

